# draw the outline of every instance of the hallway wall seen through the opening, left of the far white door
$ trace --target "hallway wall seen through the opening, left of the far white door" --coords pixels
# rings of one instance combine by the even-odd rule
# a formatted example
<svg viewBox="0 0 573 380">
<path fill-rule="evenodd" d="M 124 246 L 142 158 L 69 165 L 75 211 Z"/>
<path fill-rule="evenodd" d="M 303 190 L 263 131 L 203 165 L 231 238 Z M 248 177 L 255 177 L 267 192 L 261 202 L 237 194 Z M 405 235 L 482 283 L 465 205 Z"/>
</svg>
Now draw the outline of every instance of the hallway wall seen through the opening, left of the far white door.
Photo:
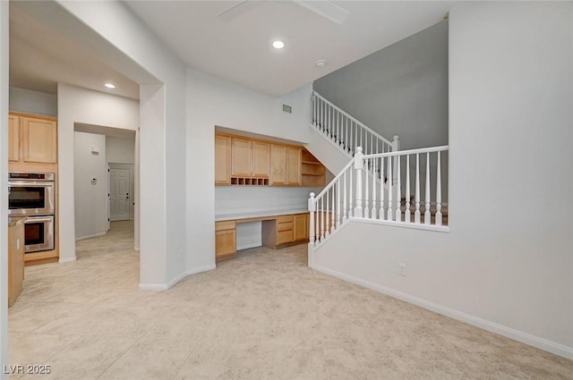
<svg viewBox="0 0 573 380">
<path fill-rule="evenodd" d="M 106 136 L 76 131 L 73 144 L 75 239 L 81 240 L 107 232 Z"/>
</svg>

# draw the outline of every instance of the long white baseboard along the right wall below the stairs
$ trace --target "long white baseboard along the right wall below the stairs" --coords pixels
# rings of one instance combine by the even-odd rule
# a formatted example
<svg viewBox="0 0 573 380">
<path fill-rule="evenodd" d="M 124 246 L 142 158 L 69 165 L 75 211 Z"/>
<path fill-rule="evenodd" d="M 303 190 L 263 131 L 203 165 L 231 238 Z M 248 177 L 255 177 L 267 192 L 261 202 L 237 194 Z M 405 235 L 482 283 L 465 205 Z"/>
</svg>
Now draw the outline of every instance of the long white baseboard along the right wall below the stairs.
<svg viewBox="0 0 573 380">
<path fill-rule="evenodd" d="M 453 308 L 446 308 L 444 306 L 438 305 L 436 303 L 430 302 L 428 300 L 423 300 L 417 298 L 415 296 L 403 293 L 401 291 L 396 291 L 394 289 L 387 288 L 385 286 L 381 286 L 377 283 L 371 283 L 369 281 L 365 281 L 363 279 L 354 277 L 352 275 L 343 274 L 335 270 L 331 270 L 329 268 L 325 268 L 322 266 L 312 266 L 312 269 L 315 269 L 319 272 L 324 274 L 329 274 L 334 277 L 337 277 L 341 280 L 347 281 L 348 283 L 355 283 L 356 285 L 363 286 L 364 288 L 371 289 L 372 291 L 378 291 L 383 294 L 386 294 L 390 297 L 396 298 L 398 300 L 403 300 L 408 303 L 412 303 L 416 306 L 421 308 L 426 308 L 431 310 L 435 313 L 441 314 L 442 316 L 454 318 L 458 321 L 465 322 L 468 325 L 475 325 L 476 327 L 483 328 L 483 330 L 490 331 L 495 334 L 503 335 L 509 339 L 513 339 L 517 342 L 526 343 L 530 346 L 534 346 L 541 350 L 546 350 L 548 352 L 552 352 L 555 355 L 562 356 L 563 358 L 573 359 L 573 347 L 568 347 L 562 345 L 557 342 L 548 341 L 546 339 L 540 338 L 538 336 L 527 334 L 522 331 L 513 329 L 511 327 L 507 327 L 504 325 L 496 324 L 495 322 L 491 322 L 485 320 L 480 317 L 475 317 L 461 311 L 455 310 Z"/>
</svg>

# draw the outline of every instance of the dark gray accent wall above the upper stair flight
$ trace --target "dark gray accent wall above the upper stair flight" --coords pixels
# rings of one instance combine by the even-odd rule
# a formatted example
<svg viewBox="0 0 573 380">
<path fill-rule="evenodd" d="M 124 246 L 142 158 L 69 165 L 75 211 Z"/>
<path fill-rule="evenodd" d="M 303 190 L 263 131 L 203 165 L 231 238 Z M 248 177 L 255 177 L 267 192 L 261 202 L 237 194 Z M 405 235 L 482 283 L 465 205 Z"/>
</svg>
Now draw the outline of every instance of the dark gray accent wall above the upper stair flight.
<svg viewBox="0 0 573 380">
<path fill-rule="evenodd" d="M 448 21 L 315 80 L 313 89 L 400 148 L 448 144 Z"/>
</svg>

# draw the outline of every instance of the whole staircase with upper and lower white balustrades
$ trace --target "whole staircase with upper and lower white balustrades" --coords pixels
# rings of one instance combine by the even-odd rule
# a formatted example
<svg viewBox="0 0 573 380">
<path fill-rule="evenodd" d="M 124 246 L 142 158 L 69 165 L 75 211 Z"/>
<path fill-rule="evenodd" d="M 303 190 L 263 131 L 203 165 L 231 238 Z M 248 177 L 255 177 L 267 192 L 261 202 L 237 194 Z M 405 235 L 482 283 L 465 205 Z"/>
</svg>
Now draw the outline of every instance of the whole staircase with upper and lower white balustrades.
<svg viewBox="0 0 573 380">
<path fill-rule="evenodd" d="M 442 202 L 448 146 L 399 150 L 398 136 L 384 139 L 316 92 L 311 128 L 315 136 L 307 148 L 330 171 L 339 170 L 308 201 L 309 264 L 311 251 L 351 220 L 449 231 Z"/>
</svg>

